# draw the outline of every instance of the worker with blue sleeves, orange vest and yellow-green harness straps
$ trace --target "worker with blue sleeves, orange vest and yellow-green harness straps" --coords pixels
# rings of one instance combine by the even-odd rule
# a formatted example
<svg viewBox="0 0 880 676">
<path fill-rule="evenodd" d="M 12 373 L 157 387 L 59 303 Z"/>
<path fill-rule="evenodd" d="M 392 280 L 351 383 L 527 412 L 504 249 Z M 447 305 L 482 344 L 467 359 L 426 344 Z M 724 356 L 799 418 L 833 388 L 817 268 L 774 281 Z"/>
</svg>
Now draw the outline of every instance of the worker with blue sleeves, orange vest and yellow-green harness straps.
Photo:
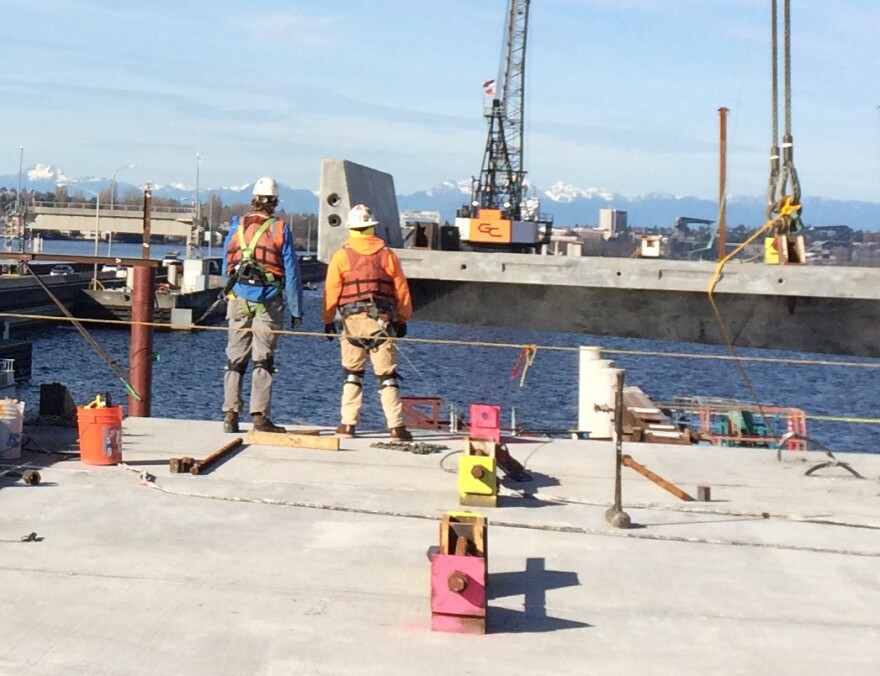
<svg viewBox="0 0 880 676">
<path fill-rule="evenodd" d="M 284 296 L 290 327 L 296 329 L 302 323 L 302 278 L 290 228 L 272 216 L 278 206 L 278 183 L 269 177 L 258 180 L 251 206 L 253 211 L 229 228 L 223 244 L 230 329 L 223 376 L 223 431 L 238 432 L 242 381 L 253 360 L 248 402 L 253 428 L 285 432 L 269 418 L 276 331 L 284 328 Z"/>
</svg>

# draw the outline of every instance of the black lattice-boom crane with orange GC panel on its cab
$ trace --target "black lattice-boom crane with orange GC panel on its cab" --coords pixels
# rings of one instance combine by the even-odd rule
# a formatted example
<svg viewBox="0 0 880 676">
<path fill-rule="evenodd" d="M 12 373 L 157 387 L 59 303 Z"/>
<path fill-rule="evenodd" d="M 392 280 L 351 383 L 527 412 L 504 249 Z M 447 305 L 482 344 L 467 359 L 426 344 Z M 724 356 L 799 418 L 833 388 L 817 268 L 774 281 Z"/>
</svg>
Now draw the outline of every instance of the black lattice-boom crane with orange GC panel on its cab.
<svg viewBox="0 0 880 676">
<path fill-rule="evenodd" d="M 526 37 L 531 0 L 509 0 L 504 56 L 491 105 L 484 111 L 488 135 L 479 177 L 471 179 L 471 201 L 457 214 L 462 244 L 488 251 L 539 252 L 550 241 L 552 220 L 525 199 L 523 123 Z M 497 94 L 497 95 L 495 95 Z"/>
</svg>

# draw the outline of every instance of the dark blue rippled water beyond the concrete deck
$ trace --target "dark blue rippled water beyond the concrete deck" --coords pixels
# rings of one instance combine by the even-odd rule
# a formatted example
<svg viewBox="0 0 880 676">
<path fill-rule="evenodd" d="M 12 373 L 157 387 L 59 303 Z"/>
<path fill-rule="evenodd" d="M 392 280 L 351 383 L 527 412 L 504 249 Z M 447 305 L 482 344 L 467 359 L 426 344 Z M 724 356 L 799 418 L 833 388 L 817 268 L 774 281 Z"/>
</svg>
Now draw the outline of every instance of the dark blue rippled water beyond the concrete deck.
<svg viewBox="0 0 880 676">
<path fill-rule="evenodd" d="M 87 242 L 46 241 L 45 250 L 83 253 Z M 106 245 L 103 245 L 106 246 Z M 51 248 L 50 248 L 51 247 Z M 123 249 L 123 247 L 128 247 Z M 131 249 L 133 247 L 133 250 Z M 151 247 L 161 257 L 180 247 Z M 206 252 L 203 249 L 203 252 Z M 102 251 L 102 253 L 104 253 Z M 219 251 L 217 252 L 219 254 Z M 113 255 L 138 256 L 140 245 L 113 245 Z M 321 296 L 305 292 L 305 318 L 301 331 L 320 333 Z M 95 338 L 127 369 L 128 331 L 88 326 Z M 123 385 L 75 330 L 47 327 L 28 337 L 34 340 L 32 383 L 19 387 L 19 397 L 34 412 L 39 404 L 39 384 L 62 382 L 77 403 L 109 390 L 127 403 Z M 400 373 L 406 395 L 440 395 L 444 404 L 455 403 L 466 411 L 470 403 L 499 404 L 504 423 L 516 410 L 517 423 L 530 429 L 567 430 L 577 424 L 577 351 L 579 345 L 606 350 L 640 350 L 666 353 L 723 355 L 722 347 L 631 338 L 608 338 L 534 330 L 460 326 L 413 321 L 410 338 L 460 340 L 510 344 L 511 347 L 474 347 L 407 343 L 401 346 Z M 523 345 L 539 346 L 525 386 L 511 379 Z M 155 417 L 216 419 L 221 417 L 222 378 L 226 334 L 222 331 L 162 331 L 154 334 L 159 360 L 153 368 L 152 414 Z M 566 351 L 541 349 L 564 347 Z M 877 367 L 880 360 L 823 356 L 773 350 L 740 350 L 741 356 L 773 357 L 784 361 L 825 359 L 858 362 Z M 656 401 L 671 401 L 677 394 L 751 400 L 751 393 L 733 362 L 611 354 L 626 370 L 626 384 L 638 385 Z M 280 423 L 294 420 L 317 425 L 339 423 L 342 370 L 339 347 L 323 336 L 283 336 L 276 358 L 272 416 Z M 808 415 L 853 418 L 880 417 L 880 369 L 844 366 L 745 363 L 749 378 L 765 405 L 803 409 Z M 368 374 L 370 371 L 368 371 Z M 245 393 L 247 393 L 246 381 Z M 376 381 L 365 379 L 361 427 L 381 429 Z M 831 450 L 880 452 L 880 425 L 808 420 L 808 433 Z"/>
</svg>

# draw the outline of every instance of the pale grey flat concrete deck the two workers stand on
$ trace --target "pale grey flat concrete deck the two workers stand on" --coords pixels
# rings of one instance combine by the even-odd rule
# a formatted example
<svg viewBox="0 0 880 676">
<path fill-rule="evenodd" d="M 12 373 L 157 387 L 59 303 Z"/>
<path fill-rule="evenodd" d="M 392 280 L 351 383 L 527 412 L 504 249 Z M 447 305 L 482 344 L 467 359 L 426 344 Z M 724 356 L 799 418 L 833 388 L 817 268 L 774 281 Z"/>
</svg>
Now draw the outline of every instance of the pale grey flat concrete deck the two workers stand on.
<svg viewBox="0 0 880 676">
<path fill-rule="evenodd" d="M 25 452 L 53 464 L 41 486 L 0 478 L 0 673 L 877 673 L 880 456 L 838 455 L 858 480 L 805 477 L 817 453 L 627 444 L 713 502 L 624 470 L 637 527 L 617 531 L 612 444 L 511 442 L 535 477 L 512 488 L 534 495 L 480 510 L 490 633 L 463 636 L 430 631 L 425 555 L 461 509 L 440 465 L 461 442 L 424 436 L 450 450 L 418 456 L 381 438 L 249 446 L 200 476 L 168 459 L 220 448 L 219 423 L 127 419 L 127 466 Z"/>
</svg>

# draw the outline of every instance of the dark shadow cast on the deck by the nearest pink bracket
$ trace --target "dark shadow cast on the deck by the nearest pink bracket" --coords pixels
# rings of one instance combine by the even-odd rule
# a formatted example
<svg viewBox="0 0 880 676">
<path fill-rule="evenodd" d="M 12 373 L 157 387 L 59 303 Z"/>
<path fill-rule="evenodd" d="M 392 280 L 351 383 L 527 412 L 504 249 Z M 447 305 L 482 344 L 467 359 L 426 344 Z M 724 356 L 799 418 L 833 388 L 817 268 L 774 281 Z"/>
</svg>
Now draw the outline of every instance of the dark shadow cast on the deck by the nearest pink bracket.
<svg viewBox="0 0 880 676">
<path fill-rule="evenodd" d="M 543 557 L 526 559 L 526 569 L 519 572 L 492 573 L 487 593 L 489 600 L 524 596 L 523 610 L 489 608 L 488 631 L 493 634 L 540 633 L 562 629 L 591 627 L 586 622 L 547 615 L 547 592 L 580 585 L 577 573 L 547 570 Z"/>
</svg>

